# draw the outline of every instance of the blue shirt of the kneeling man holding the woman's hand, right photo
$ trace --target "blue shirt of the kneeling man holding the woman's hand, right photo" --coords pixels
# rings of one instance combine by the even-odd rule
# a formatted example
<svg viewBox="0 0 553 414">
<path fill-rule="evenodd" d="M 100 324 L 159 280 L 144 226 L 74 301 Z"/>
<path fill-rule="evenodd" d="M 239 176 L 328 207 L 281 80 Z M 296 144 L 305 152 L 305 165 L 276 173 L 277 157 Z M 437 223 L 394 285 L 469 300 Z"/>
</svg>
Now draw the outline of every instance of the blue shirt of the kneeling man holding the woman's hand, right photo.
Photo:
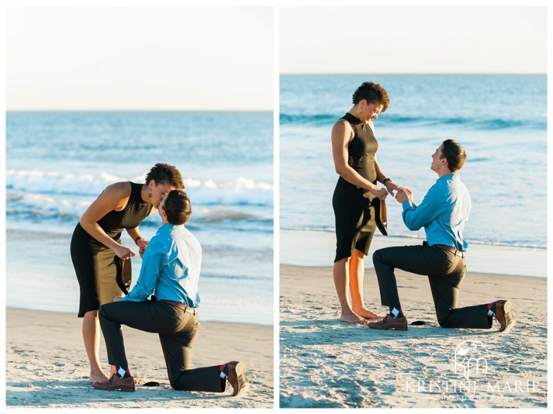
<svg viewBox="0 0 553 414">
<path fill-rule="evenodd" d="M 429 245 L 447 245 L 467 250 L 462 230 L 469 220 L 471 197 L 458 174 L 438 178 L 420 205 L 409 200 L 402 203 L 403 222 L 410 230 L 424 226 Z"/>
</svg>

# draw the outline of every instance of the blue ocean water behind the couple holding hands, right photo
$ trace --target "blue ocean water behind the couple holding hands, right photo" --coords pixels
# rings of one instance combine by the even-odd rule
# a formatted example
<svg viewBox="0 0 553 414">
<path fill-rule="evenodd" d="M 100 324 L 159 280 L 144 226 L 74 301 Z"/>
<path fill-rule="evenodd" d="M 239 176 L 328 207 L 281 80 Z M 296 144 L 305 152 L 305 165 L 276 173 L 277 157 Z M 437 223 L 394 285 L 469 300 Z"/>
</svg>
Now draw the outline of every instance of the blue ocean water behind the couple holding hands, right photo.
<svg viewBox="0 0 553 414">
<path fill-rule="evenodd" d="M 281 229 L 335 232 L 338 176 L 330 131 L 366 80 L 382 84 L 391 100 L 375 120 L 377 159 L 387 176 L 420 202 L 438 178 L 431 155 L 443 140 L 458 140 L 467 151 L 460 176 L 473 203 L 465 228 L 469 252 L 471 246 L 495 245 L 546 256 L 545 75 L 281 75 Z M 401 205 L 387 201 L 390 236 L 403 244 L 424 239 L 423 229 L 410 232 L 403 225 Z M 285 263 L 282 253 L 281 247 Z M 319 264 L 332 259 L 320 257 Z"/>
</svg>

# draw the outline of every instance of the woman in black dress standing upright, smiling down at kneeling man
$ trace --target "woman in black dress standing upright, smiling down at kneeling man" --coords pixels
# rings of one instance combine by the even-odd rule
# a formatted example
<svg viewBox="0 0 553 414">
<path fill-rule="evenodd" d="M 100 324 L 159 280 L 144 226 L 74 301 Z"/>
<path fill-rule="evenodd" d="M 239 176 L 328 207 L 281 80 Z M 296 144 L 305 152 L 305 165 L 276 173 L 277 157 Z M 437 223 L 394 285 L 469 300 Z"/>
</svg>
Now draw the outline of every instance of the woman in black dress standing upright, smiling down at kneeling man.
<svg viewBox="0 0 553 414">
<path fill-rule="evenodd" d="M 376 159 L 373 120 L 389 102 L 382 86 L 364 82 L 353 94 L 353 107 L 332 127 L 332 157 L 339 174 L 332 197 L 337 238 L 333 274 L 341 305 L 339 319 L 348 323 L 366 324 L 367 319 L 377 318 L 363 301 L 364 258 L 376 229 L 373 198 L 384 200 L 388 192 L 393 195 L 400 189 Z"/>
</svg>

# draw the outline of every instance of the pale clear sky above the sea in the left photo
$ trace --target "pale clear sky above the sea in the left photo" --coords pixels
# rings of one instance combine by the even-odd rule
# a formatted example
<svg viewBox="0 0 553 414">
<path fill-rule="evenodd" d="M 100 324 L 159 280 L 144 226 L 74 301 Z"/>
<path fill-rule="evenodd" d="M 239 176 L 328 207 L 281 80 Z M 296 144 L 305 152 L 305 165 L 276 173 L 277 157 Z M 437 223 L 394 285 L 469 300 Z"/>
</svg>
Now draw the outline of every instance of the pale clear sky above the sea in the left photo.
<svg viewBox="0 0 553 414">
<path fill-rule="evenodd" d="M 272 111 L 272 7 L 6 8 L 6 109 Z"/>
</svg>

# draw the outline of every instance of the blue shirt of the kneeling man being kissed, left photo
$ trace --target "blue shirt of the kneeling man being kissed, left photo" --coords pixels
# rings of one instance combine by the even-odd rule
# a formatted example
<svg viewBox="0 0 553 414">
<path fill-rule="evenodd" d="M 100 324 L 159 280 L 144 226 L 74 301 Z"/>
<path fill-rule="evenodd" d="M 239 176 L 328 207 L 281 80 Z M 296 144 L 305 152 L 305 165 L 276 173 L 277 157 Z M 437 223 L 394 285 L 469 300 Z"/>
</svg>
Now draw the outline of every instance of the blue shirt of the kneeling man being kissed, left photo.
<svg viewBox="0 0 553 414">
<path fill-rule="evenodd" d="M 124 301 L 158 300 L 200 305 L 198 280 L 202 247 L 184 225 L 162 225 L 148 243 L 136 285 Z"/>
</svg>

